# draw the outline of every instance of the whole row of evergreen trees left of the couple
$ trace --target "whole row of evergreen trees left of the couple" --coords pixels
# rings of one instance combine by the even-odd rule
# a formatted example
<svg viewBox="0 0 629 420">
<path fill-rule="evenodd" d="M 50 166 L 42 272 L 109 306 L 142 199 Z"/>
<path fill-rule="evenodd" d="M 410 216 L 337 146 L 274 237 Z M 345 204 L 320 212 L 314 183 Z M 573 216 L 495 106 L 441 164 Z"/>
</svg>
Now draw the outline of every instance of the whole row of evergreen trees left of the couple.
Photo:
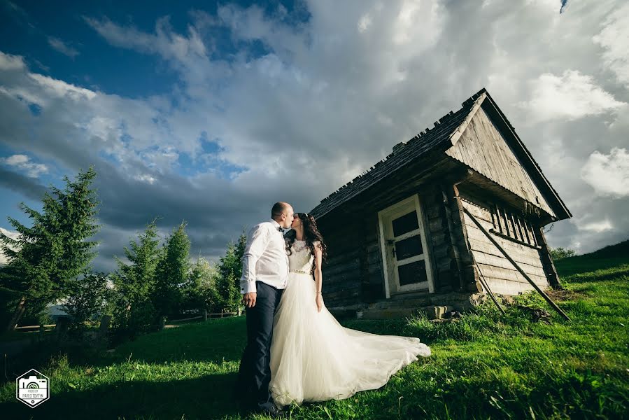
<svg viewBox="0 0 629 420">
<path fill-rule="evenodd" d="M 111 315 L 115 341 L 153 330 L 163 317 L 239 310 L 244 233 L 227 245 L 218 263 L 201 256 L 192 260 L 187 223 L 160 244 L 154 219 L 124 247 L 126 260 L 115 257 L 114 272 L 94 272 L 98 242 L 90 238 L 100 228 L 95 177 L 93 167 L 80 171 L 76 181 L 64 176 L 66 187 L 51 186 L 41 212 L 20 203 L 32 219 L 30 227 L 8 218 L 19 235 L 13 239 L 0 232 L 8 260 L 0 267 L 0 322 L 5 330 L 13 330 L 24 317 L 45 319 L 46 306 L 57 300 L 65 301 L 70 330 L 79 334 L 89 321 Z"/>
</svg>

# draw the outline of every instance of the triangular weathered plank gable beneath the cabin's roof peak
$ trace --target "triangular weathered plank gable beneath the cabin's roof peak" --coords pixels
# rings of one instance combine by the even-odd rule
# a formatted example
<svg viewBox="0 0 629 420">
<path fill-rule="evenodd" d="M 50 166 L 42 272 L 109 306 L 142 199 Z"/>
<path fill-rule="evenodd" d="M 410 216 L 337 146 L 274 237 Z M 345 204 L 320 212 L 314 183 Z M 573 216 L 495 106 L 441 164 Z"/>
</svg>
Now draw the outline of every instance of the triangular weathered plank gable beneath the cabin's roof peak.
<svg viewBox="0 0 629 420">
<path fill-rule="evenodd" d="M 555 216 L 521 162 L 481 107 L 446 154 Z M 512 221 L 508 221 L 512 229 Z"/>
</svg>

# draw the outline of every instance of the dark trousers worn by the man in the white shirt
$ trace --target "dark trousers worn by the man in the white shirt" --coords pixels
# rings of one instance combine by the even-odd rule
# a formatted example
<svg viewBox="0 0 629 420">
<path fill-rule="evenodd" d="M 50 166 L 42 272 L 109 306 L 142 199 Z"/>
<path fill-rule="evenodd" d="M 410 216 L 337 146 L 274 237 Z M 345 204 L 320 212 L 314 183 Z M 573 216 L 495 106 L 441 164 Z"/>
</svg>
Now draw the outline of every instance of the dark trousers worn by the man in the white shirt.
<svg viewBox="0 0 629 420">
<path fill-rule="evenodd" d="M 273 316 L 283 290 L 262 281 L 256 281 L 255 288 L 255 306 L 246 308 L 247 346 L 240 361 L 234 396 L 246 407 L 268 409 L 274 403 L 269 391 Z"/>
</svg>

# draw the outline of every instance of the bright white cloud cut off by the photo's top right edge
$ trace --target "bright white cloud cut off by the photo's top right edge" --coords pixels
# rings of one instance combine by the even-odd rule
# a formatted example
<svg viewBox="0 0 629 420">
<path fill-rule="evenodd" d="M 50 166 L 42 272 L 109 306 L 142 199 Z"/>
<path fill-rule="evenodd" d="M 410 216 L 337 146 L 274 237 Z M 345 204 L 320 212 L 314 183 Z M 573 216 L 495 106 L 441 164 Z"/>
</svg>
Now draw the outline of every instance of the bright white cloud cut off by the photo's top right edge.
<svg viewBox="0 0 629 420">
<path fill-rule="evenodd" d="M 629 87 L 629 3 L 613 10 L 602 27 L 593 41 L 605 50 L 602 55 L 605 66 Z"/>
</svg>

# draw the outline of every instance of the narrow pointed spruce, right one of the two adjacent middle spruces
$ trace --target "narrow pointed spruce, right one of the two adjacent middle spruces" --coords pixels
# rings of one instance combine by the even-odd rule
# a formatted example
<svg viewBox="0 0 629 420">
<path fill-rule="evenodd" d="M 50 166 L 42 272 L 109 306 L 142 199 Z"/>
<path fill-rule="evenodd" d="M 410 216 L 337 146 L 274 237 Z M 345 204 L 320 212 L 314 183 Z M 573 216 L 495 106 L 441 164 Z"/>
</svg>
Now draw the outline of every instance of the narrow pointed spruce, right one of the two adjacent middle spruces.
<svg viewBox="0 0 629 420">
<path fill-rule="evenodd" d="M 153 304 L 157 317 L 167 316 L 180 309 L 181 288 L 190 274 L 190 239 L 182 222 L 167 238 L 162 258 L 157 263 Z"/>
</svg>

